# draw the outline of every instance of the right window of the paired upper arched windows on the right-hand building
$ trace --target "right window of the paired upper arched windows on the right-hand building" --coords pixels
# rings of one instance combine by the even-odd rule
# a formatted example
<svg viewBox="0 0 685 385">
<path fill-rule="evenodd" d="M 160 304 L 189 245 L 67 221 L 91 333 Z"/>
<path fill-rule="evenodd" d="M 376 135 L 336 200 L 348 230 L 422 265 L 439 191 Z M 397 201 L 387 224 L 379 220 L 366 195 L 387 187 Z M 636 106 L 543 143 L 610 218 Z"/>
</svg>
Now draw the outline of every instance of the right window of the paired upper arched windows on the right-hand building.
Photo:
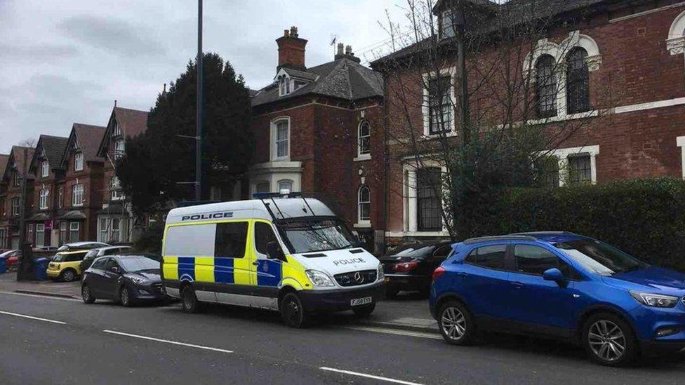
<svg viewBox="0 0 685 385">
<path fill-rule="evenodd" d="M 590 110 L 590 76 L 587 51 L 576 47 L 566 57 L 566 109 L 568 114 Z"/>
</svg>

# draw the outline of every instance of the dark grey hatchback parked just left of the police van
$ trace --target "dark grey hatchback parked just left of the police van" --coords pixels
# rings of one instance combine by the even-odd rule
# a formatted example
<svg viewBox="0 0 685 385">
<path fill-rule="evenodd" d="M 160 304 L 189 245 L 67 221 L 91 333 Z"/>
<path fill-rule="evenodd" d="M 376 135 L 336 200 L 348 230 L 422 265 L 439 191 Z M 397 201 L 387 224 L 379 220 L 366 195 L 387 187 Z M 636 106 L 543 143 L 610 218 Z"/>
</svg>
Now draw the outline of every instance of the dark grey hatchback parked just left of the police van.
<svg viewBox="0 0 685 385">
<path fill-rule="evenodd" d="M 86 304 L 95 299 L 114 299 L 124 306 L 142 301 L 163 301 L 159 262 L 141 255 L 117 255 L 95 259 L 84 273 L 81 296 Z"/>
</svg>

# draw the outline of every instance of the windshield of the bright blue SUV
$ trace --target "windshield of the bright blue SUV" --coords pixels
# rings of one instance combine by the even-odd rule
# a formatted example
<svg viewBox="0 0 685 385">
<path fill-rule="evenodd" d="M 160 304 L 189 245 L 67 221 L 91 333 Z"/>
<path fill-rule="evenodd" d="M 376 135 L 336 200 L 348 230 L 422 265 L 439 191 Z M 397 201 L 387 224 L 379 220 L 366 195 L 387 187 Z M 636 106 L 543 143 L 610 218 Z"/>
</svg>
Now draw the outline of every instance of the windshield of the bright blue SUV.
<svg viewBox="0 0 685 385">
<path fill-rule="evenodd" d="M 560 242 L 554 246 L 564 250 L 566 255 L 582 264 L 585 269 L 602 276 L 610 276 L 649 266 L 627 255 L 625 252 L 600 241 L 578 239 Z"/>
</svg>

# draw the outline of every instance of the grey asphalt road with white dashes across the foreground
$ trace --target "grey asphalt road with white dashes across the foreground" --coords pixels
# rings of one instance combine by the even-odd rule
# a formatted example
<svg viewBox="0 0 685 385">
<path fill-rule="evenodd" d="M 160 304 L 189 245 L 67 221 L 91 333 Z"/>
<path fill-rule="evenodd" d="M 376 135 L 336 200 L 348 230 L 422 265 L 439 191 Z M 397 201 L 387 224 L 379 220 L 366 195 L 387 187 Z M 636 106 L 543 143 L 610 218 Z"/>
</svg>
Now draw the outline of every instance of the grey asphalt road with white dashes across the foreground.
<svg viewBox="0 0 685 385">
<path fill-rule="evenodd" d="M 34 317 L 34 318 L 27 318 Z M 613 369 L 557 342 L 434 335 L 212 306 L 86 305 L 0 292 L 1 384 L 682 384 L 685 356 Z"/>
</svg>

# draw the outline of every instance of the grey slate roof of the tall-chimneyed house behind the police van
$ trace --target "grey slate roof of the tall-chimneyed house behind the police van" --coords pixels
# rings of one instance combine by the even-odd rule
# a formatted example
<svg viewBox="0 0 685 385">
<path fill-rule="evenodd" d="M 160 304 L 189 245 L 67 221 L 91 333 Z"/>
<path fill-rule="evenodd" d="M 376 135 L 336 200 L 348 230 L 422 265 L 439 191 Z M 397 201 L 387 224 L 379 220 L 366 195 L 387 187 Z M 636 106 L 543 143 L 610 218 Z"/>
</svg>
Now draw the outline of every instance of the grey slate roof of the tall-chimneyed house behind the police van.
<svg viewBox="0 0 685 385">
<path fill-rule="evenodd" d="M 349 58 L 340 58 L 302 72 L 286 69 L 288 74 L 298 73 L 302 79 L 309 76 L 312 82 L 284 96 L 279 96 L 277 83 L 262 88 L 252 99 L 252 106 L 260 106 L 302 95 L 324 95 L 343 100 L 361 100 L 383 96 L 383 76 Z M 315 80 L 314 80 L 315 79 Z"/>
</svg>

